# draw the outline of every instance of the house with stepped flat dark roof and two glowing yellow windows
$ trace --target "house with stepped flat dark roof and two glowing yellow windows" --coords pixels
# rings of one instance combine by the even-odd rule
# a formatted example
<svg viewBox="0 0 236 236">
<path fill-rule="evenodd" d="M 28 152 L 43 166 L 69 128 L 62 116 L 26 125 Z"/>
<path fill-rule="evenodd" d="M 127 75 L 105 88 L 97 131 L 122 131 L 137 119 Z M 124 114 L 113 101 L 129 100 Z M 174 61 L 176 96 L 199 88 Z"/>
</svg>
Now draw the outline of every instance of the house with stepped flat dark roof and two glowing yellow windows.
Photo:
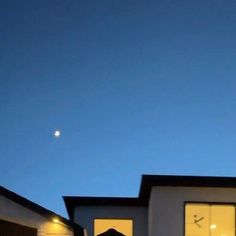
<svg viewBox="0 0 236 236">
<path fill-rule="evenodd" d="M 234 177 L 144 175 L 137 198 L 64 201 L 71 221 L 89 236 L 235 236 Z"/>
</svg>

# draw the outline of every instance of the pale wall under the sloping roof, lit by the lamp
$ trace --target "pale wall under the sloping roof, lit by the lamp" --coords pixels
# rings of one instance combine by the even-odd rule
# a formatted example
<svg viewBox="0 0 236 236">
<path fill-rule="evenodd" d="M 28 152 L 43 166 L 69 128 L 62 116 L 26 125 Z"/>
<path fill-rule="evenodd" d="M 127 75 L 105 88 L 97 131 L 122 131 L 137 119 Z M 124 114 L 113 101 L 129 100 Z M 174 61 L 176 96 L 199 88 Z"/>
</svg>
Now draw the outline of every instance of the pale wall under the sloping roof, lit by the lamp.
<svg viewBox="0 0 236 236">
<path fill-rule="evenodd" d="M 0 196 L 0 219 L 33 227 L 38 236 L 73 236 L 73 231 L 60 223 L 54 223 L 34 211 L 29 210 L 3 196 Z"/>
</svg>

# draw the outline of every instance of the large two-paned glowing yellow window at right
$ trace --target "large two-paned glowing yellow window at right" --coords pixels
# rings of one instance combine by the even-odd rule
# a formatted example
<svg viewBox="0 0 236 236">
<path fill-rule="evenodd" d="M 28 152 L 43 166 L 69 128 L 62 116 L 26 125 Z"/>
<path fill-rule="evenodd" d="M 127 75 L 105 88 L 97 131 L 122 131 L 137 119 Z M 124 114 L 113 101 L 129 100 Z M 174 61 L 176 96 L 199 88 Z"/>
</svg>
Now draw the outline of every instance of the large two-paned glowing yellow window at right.
<svg viewBox="0 0 236 236">
<path fill-rule="evenodd" d="M 186 204 L 185 236 L 235 236 L 235 205 Z"/>
</svg>

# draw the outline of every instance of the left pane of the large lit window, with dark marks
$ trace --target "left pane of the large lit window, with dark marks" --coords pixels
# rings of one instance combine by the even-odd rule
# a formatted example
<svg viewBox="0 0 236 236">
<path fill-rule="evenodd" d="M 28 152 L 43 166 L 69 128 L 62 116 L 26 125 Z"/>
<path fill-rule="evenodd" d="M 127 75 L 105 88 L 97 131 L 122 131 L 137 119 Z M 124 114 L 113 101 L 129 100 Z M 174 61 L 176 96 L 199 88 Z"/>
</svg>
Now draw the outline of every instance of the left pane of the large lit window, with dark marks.
<svg viewBox="0 0 236 236">
<path fill-rule="evenodd" d="M 209 205 L 187 204 L 185 207 L 185 235 L 209 235 Z"/>
</svg>

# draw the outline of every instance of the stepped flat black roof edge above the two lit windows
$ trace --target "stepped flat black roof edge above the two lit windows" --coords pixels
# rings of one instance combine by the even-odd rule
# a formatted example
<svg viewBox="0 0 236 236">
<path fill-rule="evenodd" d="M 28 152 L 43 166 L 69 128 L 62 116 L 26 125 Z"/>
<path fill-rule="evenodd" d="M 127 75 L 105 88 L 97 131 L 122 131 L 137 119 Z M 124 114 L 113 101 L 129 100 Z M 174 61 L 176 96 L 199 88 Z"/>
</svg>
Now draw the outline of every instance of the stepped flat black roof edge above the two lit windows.
<svg viewBox="0 0 236 236">
<path fill-rule="evenodd" d="M 64 196 L 67 212 L 73 220 L 76 206 L 147 206 L 153 186 L 235 188 L 235 177 L 143 175 L 137 198 Z"/>
</svg>

